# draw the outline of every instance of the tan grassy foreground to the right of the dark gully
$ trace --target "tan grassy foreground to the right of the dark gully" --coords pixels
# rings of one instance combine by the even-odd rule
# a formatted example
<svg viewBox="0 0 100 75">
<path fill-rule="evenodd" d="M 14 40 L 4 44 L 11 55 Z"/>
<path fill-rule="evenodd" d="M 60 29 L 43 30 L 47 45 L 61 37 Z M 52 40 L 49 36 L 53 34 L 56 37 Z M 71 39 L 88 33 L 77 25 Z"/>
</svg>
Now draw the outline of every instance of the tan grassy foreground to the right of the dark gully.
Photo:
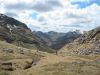
<svg viewBox="0 0 100 75">
<path fill-rule="evenodd" d="M 47 54 L 35 67 L 12 75 L 99 75 L 100 56 L 56 56 Z"/>
</svg>

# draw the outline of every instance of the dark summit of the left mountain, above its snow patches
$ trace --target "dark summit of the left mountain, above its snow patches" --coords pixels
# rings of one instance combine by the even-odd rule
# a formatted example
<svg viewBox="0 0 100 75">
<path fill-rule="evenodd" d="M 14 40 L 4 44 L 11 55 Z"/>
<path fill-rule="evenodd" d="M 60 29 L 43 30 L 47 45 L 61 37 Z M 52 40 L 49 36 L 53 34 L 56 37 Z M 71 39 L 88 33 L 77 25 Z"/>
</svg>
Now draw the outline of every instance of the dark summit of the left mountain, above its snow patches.
<svg viewBox="0 0 100 75">
<path fill-rule="evenodd" d="M 6 27 L 23 27 L 25 29 L 29 29 L 24 23 L 12 18 L 12 17 L 9 17 L 9 16 L 6 16 L 4 14 L 0 14 L 0 26 L 6 26 Z"/>
</svg>

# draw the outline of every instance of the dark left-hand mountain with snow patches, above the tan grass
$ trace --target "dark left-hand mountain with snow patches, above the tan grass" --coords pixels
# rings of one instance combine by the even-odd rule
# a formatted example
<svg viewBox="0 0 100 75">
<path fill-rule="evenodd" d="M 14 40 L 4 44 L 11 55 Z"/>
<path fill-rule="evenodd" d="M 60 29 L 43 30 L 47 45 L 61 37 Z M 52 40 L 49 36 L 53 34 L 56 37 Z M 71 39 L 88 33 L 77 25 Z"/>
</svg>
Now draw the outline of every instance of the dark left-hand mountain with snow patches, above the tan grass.
<svg viewBox="0 0 100 75">
<path fill-rule="evenodd" d="M 0 40 L 25 48 L 52 52 L 24 23 L 4 14 L 0 14 Z"/>
</svg>

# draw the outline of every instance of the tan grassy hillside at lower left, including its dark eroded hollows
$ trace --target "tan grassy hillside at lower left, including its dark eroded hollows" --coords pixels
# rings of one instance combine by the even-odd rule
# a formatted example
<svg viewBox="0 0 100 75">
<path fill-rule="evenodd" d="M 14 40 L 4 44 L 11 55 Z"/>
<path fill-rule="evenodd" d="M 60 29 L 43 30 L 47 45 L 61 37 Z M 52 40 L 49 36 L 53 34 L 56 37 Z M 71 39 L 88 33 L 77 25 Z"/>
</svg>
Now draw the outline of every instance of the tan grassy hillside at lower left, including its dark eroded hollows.
<svg viewBox="0 0 100 75">
<path fill-rule="evenodd" d="M 41 57 L 43 55 L 37 53 L 35 49 L 26 49 L 0 41 L 0 75 L 31 68 L 38 63 Z"/>
</svg>

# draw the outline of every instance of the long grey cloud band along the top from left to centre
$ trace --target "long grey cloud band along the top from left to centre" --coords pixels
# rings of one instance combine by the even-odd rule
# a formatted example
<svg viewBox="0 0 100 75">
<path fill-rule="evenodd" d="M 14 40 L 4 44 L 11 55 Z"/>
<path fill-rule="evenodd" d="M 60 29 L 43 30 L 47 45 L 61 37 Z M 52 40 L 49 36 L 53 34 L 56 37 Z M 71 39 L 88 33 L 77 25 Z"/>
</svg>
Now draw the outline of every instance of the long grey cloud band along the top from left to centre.
<svg viewBox="0 0 100 75">
<path fill-rule="evenodd" d="M 6 10 L 35 10 L 37 12 L 46 12 L 53 10 L 55 7 L 60 7 L 61 3 L 59 0 L 10 0 L 10 1 L 2 1 L 2 3 L 6 2 L 5 8 Z M 10 3 L 11 2 L 11 3 Z"/>
</svg>

